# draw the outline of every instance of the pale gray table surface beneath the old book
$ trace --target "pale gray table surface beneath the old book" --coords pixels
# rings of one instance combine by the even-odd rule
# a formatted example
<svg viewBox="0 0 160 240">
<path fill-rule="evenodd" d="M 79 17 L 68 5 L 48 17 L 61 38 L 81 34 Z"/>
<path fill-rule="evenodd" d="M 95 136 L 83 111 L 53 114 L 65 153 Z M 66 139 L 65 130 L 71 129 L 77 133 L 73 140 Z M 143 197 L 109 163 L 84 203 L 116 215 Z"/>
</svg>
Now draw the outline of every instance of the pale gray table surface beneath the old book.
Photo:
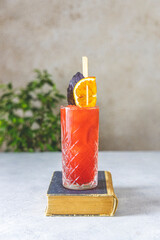
<svg viewBox="0 0 160 240">
<path fill-rule="evenodd" d="M 100 152 L 112 173 L 114 217 L 46 217 L 46 191 L 61 153 L 0 153 L 0 239 L 160 239 L 160 152 Z"/>
</svg>

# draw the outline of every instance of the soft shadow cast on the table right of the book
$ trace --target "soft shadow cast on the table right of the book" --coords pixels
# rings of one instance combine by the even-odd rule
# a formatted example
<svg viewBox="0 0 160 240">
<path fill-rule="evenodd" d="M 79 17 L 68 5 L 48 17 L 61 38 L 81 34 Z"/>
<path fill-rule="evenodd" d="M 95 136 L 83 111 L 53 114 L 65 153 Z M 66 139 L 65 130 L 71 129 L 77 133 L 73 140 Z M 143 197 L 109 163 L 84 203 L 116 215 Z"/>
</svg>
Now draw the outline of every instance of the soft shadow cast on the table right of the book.
<svg viewBox="0 0 160 240">
<path fill-rule="evenodd" d="M 160 212 L 157 188 L 117 187 L 114 190 L 119 200 L 115 216 L 143 215 Z"/>
</svg>

